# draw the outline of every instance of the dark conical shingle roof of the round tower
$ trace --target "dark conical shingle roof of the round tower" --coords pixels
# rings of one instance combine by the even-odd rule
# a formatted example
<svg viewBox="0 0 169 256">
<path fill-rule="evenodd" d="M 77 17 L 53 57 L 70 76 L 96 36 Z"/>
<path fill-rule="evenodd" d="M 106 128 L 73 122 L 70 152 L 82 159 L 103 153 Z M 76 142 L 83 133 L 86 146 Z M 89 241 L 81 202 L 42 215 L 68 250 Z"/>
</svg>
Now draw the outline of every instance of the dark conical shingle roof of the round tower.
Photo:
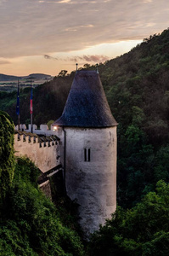
<svg viewBox="0 0 169 256">
<path fill-rule="evenodd" d="M 64 111 L 53 125 L 110 127 L 117 125 L 96 71 L 77 71 Z"/>
</svg>

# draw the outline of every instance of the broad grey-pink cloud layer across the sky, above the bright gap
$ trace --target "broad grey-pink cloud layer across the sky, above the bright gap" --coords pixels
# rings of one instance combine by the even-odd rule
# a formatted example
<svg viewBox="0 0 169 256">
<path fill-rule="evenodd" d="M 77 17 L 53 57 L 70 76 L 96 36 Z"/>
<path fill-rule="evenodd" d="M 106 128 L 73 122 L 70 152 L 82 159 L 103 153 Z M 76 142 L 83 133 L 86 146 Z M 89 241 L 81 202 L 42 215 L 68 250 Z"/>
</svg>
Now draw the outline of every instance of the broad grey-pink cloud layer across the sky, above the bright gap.
<svg viewBox="0 0 169 256">
<path fill-rule="evenodd" d="M 4 58 L 144 39 L 168 24 L 167 0 L 0 0 L 0 5 Z"/>
</svg>

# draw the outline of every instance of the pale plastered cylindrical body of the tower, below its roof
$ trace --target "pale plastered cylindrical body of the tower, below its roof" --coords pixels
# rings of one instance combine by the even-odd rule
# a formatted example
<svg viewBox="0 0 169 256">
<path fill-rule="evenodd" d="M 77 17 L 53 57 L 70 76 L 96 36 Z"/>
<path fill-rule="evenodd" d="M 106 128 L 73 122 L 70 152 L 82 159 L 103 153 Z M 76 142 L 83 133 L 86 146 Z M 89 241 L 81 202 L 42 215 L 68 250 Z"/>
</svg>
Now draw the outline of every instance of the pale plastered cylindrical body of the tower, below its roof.
<svg viewBox="0 0 169 256">
<path fill-rule="evenodd" d="M 87 236 L 99 229 L 116 208 L 116 126 L 65 128 L 67 195 L 80 205 L 80 224 Z M 91 160 L 84 161 L 84 148 Z"/>
</svg>

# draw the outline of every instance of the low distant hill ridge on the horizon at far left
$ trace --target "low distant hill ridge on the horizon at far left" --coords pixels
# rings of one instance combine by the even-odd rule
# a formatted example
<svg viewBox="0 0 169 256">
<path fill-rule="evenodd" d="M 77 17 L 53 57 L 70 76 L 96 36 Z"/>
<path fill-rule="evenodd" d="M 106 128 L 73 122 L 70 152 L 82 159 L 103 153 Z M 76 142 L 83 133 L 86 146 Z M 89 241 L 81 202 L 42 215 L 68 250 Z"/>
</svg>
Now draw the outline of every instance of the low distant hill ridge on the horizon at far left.
<svg viewBox="0 0 169 256">
<path fill-rule="evenodd" d="M 18 79 L 51 79 L 52 76 L 44 73 L 31 73 L 28 76 L 12 76 L 0 73 L 0 81 L 14 81 Z"/>
</svg>

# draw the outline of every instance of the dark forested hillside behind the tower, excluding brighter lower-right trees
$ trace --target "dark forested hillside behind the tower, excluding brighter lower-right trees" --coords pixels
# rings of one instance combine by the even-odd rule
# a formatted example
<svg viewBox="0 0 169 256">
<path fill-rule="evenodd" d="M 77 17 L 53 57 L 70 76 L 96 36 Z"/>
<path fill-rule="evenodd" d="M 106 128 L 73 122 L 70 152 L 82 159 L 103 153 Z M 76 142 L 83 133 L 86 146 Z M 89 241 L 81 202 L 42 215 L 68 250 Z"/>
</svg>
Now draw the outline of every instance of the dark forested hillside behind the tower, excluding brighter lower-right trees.
<svg viewBox="0 0 169 256">
<path fill-rule="evenodd" d="M 96 69 L 96 66 L 87 69 Z M 118 125 L 117 201 L 132 207 L 160 179 L 169 181 L 169 30 L 114 60 L 99 64 L 99 74 Z M 59 118 L 75 73 L 61 72 L 34 89 L 34 123 Z M 20 91 L 20 121 L 28 123 L 30 90 Z M 15 93 L 0 93 L 0 108 L 14 123 Z"/>
</svg>

